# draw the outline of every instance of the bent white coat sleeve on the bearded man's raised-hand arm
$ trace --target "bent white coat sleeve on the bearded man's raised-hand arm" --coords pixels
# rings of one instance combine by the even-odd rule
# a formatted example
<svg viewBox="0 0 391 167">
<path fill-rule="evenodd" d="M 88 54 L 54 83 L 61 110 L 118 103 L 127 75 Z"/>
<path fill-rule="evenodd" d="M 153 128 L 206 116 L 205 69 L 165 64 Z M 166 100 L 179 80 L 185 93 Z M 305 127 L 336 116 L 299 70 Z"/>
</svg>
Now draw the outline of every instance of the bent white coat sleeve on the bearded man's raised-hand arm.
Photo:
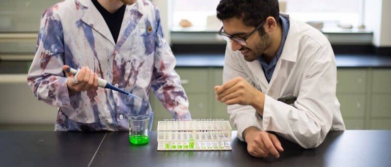
<svg viewBox="0 0 391 167">
<path fill-rule="evenodd" d="M 320 48 L 305 69 L 294 106 L 265 95 L 258 126 L 274 131 L 303 148 L 319 146 L 332 125 L 336 99 L 337 67 L 330 46 Z"/>
</svg>

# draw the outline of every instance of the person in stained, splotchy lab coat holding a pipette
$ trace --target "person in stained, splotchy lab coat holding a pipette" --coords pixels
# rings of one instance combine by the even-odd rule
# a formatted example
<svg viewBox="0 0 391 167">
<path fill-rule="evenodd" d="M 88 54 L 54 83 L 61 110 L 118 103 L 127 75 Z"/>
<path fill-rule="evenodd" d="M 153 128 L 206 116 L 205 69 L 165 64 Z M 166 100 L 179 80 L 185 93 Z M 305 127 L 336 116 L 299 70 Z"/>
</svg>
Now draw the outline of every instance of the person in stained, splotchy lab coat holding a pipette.
<svg viewBox="0 0 391 167">
<path fill-rule="evenodd" d="M 77 83 L 66 65 L 82 67 Z M 55 130 L 126 131 L 129 114 L 153 116 L 151 88 L 174 118 L 191 119 L 174 67 L 150 2 L 67 0 L 42 16 L 27 82 L 40 101 L 59 107 Z M 98 77 L 142 100 L 97 87 Z"/>
</svg>

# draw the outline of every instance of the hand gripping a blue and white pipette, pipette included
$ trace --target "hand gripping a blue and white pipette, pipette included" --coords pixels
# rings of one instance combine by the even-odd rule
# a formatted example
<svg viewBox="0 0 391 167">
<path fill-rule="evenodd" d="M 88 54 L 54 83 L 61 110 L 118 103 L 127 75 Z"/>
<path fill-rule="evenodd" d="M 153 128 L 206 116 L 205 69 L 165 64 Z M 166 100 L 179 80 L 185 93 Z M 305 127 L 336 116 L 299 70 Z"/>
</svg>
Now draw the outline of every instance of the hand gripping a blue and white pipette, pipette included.
<svg viewBox="0 0 391 167">
<path fill-rule="evenodd" d="M 109 83 L 107 83 L 106 80 L 99 78 L 96 73 L 94 73 L 92 70 L 88 68 L 88 66 L 83 66 L 80 70 L 72 69 L 68 65 L 63 66 L 63 71 L 67 73 L 68 75 L 68 81 L 67 85 L 68 88 L 75 92 L 78 91 L 85 91 L 92 87 L 102 87 L 102 88 L 108 88 L 111 90 L 119 91 L 121 93 L 124 93 L 128 96 L 132 96 L 138 99 L 141 99 L 140 97 L 126 92 L 124 90 L 121 90 Z"/>
</svg>

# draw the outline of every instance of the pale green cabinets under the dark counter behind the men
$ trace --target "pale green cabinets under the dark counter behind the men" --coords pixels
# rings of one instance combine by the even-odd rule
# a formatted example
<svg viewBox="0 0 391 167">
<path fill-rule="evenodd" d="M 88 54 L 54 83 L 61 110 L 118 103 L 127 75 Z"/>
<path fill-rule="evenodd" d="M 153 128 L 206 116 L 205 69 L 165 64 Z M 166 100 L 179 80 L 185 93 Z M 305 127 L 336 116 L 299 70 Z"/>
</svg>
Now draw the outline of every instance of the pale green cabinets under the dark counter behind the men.
<svg viewBox="0 0 391 167">
<path fill-rule="evenodd" d="M 229 120 L 227 106 L 214 99 L 213 87 L 222 84 L 222 68 L 180 67 L 176 71 L 184 81 L 192 118 Z M 347 129 L 391 129 L 391 69 L 338 68 L 337 98 Z M 156 98 L 150 100 L 159 118 L 154 120 L 156 126 L 170 115 Z"/>
</svg>

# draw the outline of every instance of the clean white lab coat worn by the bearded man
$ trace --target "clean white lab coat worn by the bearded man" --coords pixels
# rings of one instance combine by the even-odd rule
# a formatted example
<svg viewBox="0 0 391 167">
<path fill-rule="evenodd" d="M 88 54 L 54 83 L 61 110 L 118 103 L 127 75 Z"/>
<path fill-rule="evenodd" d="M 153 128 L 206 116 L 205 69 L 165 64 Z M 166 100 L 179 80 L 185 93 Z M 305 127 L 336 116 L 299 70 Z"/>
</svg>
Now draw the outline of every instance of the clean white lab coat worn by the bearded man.
<svg viewBox="0 0 391 167">
<path fill-rule="evenodd" d="M 282 14 L 289 19 L 289 16 Z M 336 97 L 337 67 L 325 36 L 308 24 L 290 19 L 288 36 L 270 83 L 258 60 L 247 62 L 228 42 L 224 82 L 242 77 L 265 94 L 261 117 L 252 106 L 230 105 L 230 121 L 238 138 L 249 126 L 274 131 L 303 148 L 319 146 L 329 130 L 344 130 L 345 124 Z M 294 106 L 277 98 L 297 96 Z"/>
</svg>

